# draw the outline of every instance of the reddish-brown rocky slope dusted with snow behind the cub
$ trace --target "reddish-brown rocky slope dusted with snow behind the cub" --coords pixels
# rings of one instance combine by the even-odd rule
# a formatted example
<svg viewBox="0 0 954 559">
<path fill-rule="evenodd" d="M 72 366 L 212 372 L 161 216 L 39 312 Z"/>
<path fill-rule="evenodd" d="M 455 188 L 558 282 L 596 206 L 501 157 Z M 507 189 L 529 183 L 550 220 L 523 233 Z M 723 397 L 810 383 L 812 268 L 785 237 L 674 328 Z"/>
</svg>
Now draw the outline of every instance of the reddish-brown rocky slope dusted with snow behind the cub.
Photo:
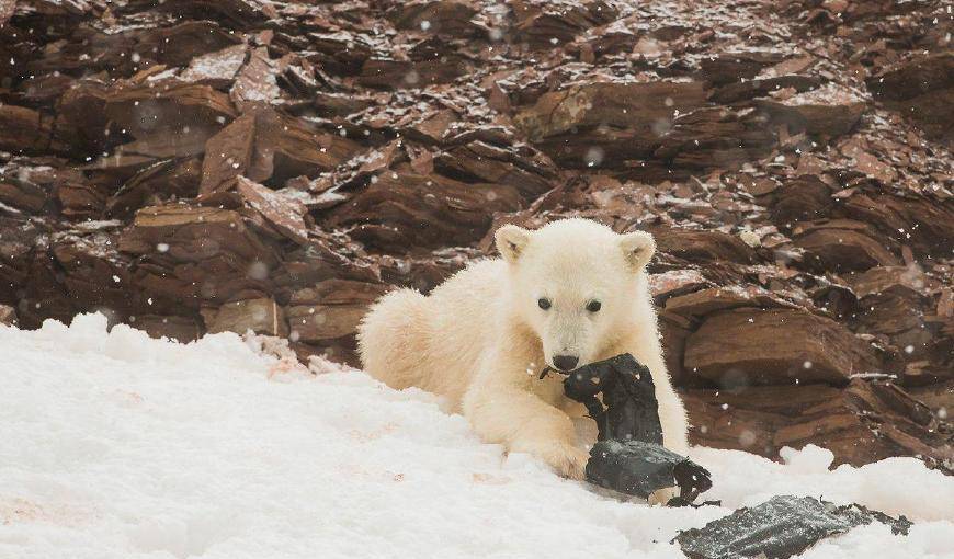
<svg viewBox="0 0 954 559">
<path fill-rule="evenodd" d="M 954 467 L 940 1 L 0 0 L 0 320 L 353 361 L 500 224 L 646 229 L 695 442 Z"/>
</svg>

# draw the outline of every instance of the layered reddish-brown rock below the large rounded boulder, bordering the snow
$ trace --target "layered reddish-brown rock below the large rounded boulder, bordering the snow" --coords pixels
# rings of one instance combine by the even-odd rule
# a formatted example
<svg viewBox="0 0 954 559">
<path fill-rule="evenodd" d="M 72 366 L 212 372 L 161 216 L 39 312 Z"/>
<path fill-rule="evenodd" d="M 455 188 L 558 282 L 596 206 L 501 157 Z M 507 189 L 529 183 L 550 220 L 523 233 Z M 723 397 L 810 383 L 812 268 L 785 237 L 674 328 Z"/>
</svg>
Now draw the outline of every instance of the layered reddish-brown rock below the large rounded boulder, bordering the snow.
<svg viewBox="0 0 954 559">
<path fill-rule="evenodd" d="M 690 442 L 742 448 L 777 459 L 785 446 L 815 444 L 834 465 L 861 466 L 893 456 L 920 456 L 951 471 L 952 425 L 900 388 L 854 379 L 844 390 L 825 385 L 689 390 Z"/>
</svg>

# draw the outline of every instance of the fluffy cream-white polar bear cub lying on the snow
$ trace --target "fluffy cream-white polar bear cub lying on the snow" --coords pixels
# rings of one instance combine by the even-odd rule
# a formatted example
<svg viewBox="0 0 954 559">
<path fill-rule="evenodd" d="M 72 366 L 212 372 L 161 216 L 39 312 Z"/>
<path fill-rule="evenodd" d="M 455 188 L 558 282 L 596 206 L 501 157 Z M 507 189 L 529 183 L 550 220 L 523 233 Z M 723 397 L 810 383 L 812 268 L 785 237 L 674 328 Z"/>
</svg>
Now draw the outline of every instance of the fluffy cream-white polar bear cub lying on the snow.
<svg viewBox="0 0 954 559">
<path fill-rule="evenodd" d="M 502 259 L 482 260 L 434 288 L 391 292 L 359 328 L 364 369 L 396 389 L 444 397 L 488 443 L 529 453 L 582 479 L 589 454 L 560 370 L 632 353 L 656 384 L 663 444 L 685 454 L 685 411 L 672 389 L 647 288 L 656 244 L 588 219 L 496 233 Z M 592 441 L 582 442 L 592 444 Z"/>
</svg>

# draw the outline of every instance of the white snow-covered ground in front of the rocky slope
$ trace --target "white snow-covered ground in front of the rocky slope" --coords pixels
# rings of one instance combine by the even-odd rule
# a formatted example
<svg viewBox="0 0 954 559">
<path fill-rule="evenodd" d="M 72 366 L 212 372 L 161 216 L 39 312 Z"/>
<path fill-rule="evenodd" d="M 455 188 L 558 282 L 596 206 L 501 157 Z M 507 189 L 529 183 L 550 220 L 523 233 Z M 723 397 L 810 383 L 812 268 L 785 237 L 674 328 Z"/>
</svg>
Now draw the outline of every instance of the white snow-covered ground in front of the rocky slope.
<svg viewBox="0 0 954 559">
<path fill-rule="evenodd" d="M 427 393 L 258 350 L 106 333 L 99 315 L 0 326 L 0 558 L 679 558 L 680 528 L 782 493 L 916 522 L 803 557 L 954 557 L 954 479 L 915 459 L 828 471 L 816 447 L 787 465 L 697 448 L 723 506 L 649 507 L 504 458 Z"/>
</svg>

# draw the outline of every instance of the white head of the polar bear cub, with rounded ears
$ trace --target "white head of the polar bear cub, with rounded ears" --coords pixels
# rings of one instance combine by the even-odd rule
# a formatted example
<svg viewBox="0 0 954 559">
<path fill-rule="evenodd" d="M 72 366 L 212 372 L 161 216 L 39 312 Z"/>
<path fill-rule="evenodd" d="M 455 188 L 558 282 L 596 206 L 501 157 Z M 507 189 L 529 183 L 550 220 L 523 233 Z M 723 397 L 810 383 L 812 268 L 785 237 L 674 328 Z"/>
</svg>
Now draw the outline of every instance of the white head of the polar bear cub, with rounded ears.
<svg viewBox="0 0 954 559">
<path fill-rule="evenodd" d="M 547 365 L 571 370 L 599 358 L 635 320 L 651 317 L 645 267 L 656 252 L 645 231 L 618 235 L 589 219 L 496 233 L 508 263 L 508 310 L 540 338 Z"/>
</svg>

